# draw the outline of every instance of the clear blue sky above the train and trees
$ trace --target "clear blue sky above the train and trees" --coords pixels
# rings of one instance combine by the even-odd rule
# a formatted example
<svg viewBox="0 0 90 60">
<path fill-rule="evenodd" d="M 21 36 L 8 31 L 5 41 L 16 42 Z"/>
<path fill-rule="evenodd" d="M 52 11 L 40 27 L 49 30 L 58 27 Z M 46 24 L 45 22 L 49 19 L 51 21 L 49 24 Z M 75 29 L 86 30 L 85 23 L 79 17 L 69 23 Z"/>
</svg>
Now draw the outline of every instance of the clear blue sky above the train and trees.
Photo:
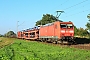
<svg viewBox="0 0 90 60">
<path fill-rule="evenodd" d="M 43 14 L 56 16 L 57 10 L 63 10 L 59 17 L 63 21 L 72 21 L 75 26 L 85 27 L 90 13 L 90 0 L 0 0 L 0 34 L 9 30 L 33 27 Z M 24 22 L 24 23 L 23 23 Z"/>
</svg>

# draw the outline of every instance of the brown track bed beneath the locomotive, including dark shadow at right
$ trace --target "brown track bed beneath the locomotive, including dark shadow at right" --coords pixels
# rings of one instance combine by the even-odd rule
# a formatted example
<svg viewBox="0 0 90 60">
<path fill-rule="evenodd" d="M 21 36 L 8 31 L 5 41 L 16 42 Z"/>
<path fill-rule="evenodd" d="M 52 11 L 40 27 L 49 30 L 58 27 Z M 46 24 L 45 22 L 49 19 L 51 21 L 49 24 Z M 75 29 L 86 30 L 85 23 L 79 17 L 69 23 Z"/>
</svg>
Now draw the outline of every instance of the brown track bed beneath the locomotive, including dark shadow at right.
<svg viewBox="0 0 90 60">
<path fill-rule="evenodd" d="M 28 40 L 27 40 L 28 41 Z M 29 40 L 31 41 L 31 40 Z M 32 40 L 33 41 L 33 40 Z M 90 50 L 90 39 L 87 38 L 76 38 L 75 42 L 76 44 L 61 44 L 61 43 L 51 43 L 51 42 L 41 42 L 41 41 L 37 41 L 38 43 L 43 43 L 43 44 L 50 44 L 50 45 L 54 45 L 54 46 L 60 46 L 60 47 L 70 47 L 70 48 L 79 48 L 79 49 L 85 49 L 85 50 Z"/>
</svg>

